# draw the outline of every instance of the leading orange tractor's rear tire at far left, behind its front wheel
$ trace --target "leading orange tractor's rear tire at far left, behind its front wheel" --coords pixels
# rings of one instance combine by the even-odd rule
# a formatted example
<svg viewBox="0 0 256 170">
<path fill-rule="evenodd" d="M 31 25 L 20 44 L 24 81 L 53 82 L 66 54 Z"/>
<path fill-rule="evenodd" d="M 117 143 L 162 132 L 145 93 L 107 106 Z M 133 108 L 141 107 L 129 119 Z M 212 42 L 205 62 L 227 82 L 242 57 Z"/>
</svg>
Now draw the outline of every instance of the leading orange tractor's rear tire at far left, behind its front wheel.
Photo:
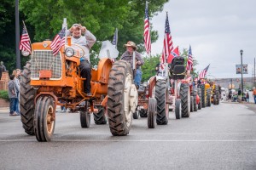
<svg viewBox="0 0 256 170">
<path fill-rule="evenodd" d="M 31 85 L 31 62 L 27 61 L 24 70 L 21 73 L 20 80 L 20 116 L 22 127 L 25 132 L 30 135 L 34 135 L 34 111 L 35 104 L 34 99 L 37 94 Z"/>
</svg>

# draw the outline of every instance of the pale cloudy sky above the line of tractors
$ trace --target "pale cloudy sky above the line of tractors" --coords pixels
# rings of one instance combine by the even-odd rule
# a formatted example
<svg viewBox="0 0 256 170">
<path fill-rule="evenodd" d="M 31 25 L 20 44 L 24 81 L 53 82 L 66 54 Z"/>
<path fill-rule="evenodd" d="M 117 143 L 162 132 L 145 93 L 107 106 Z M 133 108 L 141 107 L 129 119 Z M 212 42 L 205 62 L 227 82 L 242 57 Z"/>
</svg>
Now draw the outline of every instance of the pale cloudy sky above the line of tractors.
<svg viewBox="0 0 256 170">
<path fill-rule="evenodd" d="M 149 3 L 150 8 L 150 3 Z M 255 0 L 171 0 L 164 10 L 150 22 L 159 31 L 159 39 L 152 44 L 152 54 L 163 48 L 166 11 L 174 47 L 189 48 L 199 62 L 197 71 L 208 64 L 208 75 L 213 78 L 233 77 L 236 65 L 248 64 L 252 77 L 256 57 L 256 1 Z"/>
</svg>

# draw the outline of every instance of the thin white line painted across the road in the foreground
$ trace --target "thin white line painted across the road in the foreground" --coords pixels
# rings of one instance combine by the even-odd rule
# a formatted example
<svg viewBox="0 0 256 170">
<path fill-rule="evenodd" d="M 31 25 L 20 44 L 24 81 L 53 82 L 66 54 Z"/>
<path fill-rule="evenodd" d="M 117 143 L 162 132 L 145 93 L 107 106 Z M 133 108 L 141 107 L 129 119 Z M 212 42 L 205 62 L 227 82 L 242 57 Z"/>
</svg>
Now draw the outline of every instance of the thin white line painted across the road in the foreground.
<svg viewBox="0 0 256 170">
<path fill-rule="evenodd" d="M 0 139 L 0 142 L 36 142 L 36 139 Z M 51 142 L 256 142 L 252 140 L 88 140 L 88 139 L 53 139 Z"/>
</svg>

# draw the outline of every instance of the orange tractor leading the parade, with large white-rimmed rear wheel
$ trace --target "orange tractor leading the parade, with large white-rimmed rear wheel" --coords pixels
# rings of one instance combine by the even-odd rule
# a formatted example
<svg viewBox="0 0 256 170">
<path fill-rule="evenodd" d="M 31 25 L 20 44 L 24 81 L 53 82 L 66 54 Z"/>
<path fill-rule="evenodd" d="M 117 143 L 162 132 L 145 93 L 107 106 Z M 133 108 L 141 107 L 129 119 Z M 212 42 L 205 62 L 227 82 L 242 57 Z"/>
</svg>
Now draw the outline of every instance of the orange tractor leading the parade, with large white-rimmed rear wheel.
<svg viewBox="0 0 256 170">
<path fill-rule="evenodd" d="M 67 45 L 53 56 L 50 43 L 32 44 L 31 60 L 21 74 L 20 114 L 25 132 L 35 134 L 38 141 L 49 141 L 55 130 L 56 106 L 63 105 L 79 111 L 81 127 L 90 127 L 93 113 L 96 124 L 106 124 L 108 119 L 113 135 L 128 134 L 137 107 L 131 65 L 101 59 L 97 70 L 91 70 L 89 97 L 84 94 L 79 71 L 83 48 L 67 37 Z"/>
</svg>

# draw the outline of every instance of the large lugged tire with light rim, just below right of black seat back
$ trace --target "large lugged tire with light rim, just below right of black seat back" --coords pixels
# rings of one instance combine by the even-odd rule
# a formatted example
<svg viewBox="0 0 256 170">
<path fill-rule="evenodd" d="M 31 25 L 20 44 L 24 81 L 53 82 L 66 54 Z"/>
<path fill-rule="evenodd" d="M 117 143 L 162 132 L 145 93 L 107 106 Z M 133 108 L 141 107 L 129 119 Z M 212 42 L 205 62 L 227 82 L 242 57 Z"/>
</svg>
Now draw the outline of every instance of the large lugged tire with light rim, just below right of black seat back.
<svg viewBox="0 0 256 170">
<path fill-rule="evenodd" d="M 180 86 L 180 99 L 182 105 L 182 116 L 190 116 L 190 94 L 189 94 L 189 84 L 182 83 Z"/>
</svg>

